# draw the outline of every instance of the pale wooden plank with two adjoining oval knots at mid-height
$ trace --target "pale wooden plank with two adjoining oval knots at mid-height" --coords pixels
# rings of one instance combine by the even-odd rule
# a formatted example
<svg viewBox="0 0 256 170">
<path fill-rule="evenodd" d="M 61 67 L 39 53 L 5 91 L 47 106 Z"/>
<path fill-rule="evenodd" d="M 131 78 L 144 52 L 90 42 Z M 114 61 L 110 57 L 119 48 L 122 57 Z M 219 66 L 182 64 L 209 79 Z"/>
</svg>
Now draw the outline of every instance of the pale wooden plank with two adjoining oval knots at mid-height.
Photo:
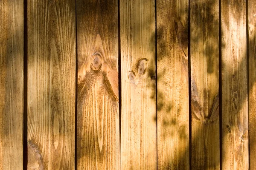
<svg viewBox="0 0 256 170">
<path fill-rule="evenodd" d="M 120 0 L 121 169 L 156 169 L 154 0 Z"/>
</svg>

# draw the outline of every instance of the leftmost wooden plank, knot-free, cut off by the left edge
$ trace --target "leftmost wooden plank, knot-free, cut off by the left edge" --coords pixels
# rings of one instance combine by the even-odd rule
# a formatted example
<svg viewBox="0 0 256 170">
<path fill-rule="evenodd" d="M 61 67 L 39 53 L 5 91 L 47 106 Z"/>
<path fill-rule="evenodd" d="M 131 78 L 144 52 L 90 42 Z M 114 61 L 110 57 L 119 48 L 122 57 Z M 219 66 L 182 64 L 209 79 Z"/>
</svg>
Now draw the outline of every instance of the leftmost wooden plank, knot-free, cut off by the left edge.
<svg viewBox="0 0 256 170">
<path fill-rule="evenodd" d="M 23 168 L 23 0 L 0 1 L 0 170 Z"/>
</svg>

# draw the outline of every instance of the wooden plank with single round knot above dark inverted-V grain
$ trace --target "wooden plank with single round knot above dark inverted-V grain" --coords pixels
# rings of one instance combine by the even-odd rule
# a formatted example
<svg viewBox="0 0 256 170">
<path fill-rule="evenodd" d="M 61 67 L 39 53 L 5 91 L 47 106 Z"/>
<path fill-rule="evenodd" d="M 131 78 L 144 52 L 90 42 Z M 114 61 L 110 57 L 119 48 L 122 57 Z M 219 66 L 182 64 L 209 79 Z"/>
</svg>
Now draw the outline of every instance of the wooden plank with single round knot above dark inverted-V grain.
<svg viewBox="0 0 256 170">
<path fill-rule="evenodd" d="M 117 0 L 77 0 L 78 170 L 120 168 Z"/>
</svg>

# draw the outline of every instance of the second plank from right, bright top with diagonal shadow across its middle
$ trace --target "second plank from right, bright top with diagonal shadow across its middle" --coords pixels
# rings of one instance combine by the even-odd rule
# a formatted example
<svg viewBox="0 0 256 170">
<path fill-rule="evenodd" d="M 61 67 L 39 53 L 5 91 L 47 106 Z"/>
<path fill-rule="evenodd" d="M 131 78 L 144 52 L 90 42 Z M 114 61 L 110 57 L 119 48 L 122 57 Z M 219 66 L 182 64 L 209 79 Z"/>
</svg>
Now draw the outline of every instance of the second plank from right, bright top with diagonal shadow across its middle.
<svg viewBox="0 0 256 170">
<path fill-rule="evenodd" d="M 244 0 L 221 0 L 222 168 L 247 170 L 248 97 Z"/>
</svg>

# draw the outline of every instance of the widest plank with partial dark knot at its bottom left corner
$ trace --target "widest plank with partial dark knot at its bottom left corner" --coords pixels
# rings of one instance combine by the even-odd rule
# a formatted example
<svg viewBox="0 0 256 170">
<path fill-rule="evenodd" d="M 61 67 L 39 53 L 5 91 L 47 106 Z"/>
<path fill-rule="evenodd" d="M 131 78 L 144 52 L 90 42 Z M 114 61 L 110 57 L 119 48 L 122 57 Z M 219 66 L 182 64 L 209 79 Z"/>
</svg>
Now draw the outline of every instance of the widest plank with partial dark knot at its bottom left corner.
<svg viewBox="0 0 256 170">
<path fill-rule="evenodd" d="M 28 0 L 28 169 L 75 167 L 76 1 Z"/>
</svg>

